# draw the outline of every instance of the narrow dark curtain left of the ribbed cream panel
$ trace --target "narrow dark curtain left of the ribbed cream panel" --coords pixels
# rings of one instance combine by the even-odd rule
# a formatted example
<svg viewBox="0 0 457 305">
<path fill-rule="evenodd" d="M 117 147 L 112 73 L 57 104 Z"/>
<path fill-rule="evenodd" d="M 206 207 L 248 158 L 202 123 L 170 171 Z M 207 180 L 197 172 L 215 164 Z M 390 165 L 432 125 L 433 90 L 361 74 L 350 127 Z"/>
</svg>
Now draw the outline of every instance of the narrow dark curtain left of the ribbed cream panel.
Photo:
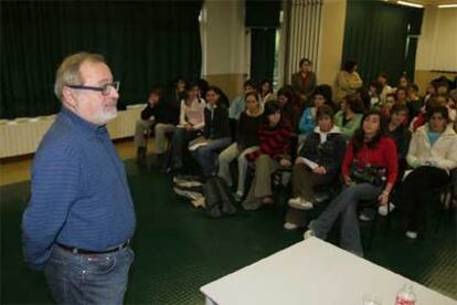
<svg viewBox="0 0 457 305">
<path fill-rule="evenodd" d="M 251 78 L 273 81 L 276 29 L 252 29 Z"/>
</svg>

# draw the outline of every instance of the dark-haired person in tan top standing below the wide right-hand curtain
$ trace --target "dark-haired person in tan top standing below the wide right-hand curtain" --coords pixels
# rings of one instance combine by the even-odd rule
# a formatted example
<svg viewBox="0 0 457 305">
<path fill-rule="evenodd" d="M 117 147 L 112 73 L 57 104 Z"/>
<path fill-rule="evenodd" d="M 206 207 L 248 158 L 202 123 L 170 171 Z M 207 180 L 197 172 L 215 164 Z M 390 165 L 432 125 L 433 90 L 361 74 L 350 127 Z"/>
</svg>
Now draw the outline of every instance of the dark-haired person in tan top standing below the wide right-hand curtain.
<svg viewBox="0 0 457 305">
<path fill-rule="evenodd" d="M 354 94 L 362 86 L 362 78 L 357 73 L 357 62 L 348 60 L 334 82 L 334 101 L 339 104 L 344 96 Z"/>
</svg>

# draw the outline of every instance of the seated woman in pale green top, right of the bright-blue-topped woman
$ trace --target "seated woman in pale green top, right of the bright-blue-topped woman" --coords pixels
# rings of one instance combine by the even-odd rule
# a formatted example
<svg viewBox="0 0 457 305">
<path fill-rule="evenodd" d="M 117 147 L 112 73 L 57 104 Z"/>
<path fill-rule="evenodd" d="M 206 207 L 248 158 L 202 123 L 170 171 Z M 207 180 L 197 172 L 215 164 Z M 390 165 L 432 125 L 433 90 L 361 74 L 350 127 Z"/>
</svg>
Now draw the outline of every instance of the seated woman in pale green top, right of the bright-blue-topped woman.
<svg viewBox="0 0 457 305">
<path fill-rule="evenodd" d="M 341 111 L 334 115 L 334 125 L 340 127 L 346 140 L 350 140 L 363 116 L 363 104 L 357 95 L 348 95 L 341 101 Z"/>
</svg>

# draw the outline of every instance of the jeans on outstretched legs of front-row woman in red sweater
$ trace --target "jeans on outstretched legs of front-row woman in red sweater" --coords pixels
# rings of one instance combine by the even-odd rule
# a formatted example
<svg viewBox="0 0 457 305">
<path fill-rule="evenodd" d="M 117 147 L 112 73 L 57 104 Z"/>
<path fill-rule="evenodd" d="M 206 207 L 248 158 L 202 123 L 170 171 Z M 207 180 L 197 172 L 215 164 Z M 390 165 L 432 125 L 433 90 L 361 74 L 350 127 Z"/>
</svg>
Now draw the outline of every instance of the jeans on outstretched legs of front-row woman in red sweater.
<svg viewBox="0 0 457 305">
<path fill-rule="evenodd" d="M 375 200 L 382 191 L 382 187 L 370 183 L 360 183 L 346 187 L 337 196 L 327 209 L 308 225 L 317 238 L 327 239 L 328 232 L 341 215 L 340 245 L 359 256 L 363 256 L 362 242 L 360 240 L 359 218 L 357 206 L 360 200 Z"/>
</svg>

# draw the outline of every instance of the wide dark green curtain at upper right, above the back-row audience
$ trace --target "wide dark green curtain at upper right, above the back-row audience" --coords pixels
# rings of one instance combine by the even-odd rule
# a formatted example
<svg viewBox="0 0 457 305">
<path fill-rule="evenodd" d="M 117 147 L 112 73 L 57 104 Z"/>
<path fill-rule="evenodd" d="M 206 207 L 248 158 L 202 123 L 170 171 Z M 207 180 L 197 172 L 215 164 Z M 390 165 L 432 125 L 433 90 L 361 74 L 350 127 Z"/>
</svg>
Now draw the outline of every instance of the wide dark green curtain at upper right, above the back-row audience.
<svg viewBox="0 0 457 305">
<path fill-rule="evenodd" d="M 406 39 L 410 34 L 419 34 L 422 17 L 423 9 L 349 0 L 342 63 L 348 59 L 355 60 L 364 84 L 384 71 L 390 83 L 396 85 L 398 77 L 405 72 L 411 73 L 411 65 L 415 65 L 415 56 L 407 60 Z M 408 53 L 415 54 L 416 46 L 410 44 Z"/>
</svg>

